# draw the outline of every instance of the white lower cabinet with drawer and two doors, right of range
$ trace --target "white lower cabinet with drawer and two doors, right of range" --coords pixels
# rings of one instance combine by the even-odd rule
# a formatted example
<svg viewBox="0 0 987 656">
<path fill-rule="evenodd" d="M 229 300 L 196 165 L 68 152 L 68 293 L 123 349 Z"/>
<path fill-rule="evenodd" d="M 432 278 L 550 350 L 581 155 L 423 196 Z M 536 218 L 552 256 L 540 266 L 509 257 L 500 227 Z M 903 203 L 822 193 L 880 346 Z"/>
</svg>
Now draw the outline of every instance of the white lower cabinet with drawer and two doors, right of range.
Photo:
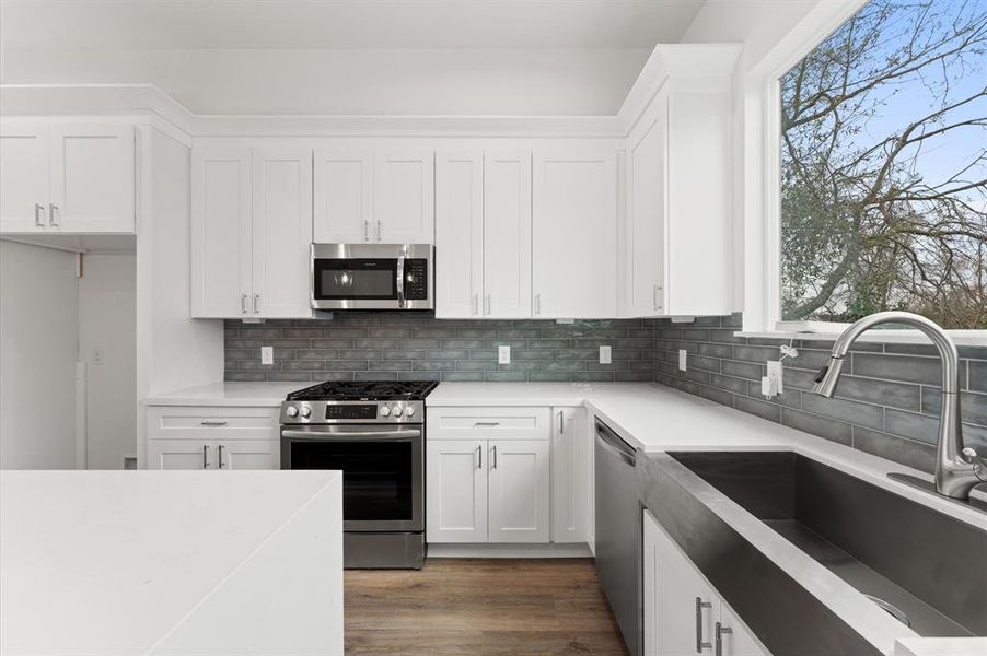
<svg viewBox="0 0 987 656">
<path fill-rule="evenodd" d="M 549 541 L 548 417 L 548 408 L 429 408 L 429 542 Z"/>
</svg>

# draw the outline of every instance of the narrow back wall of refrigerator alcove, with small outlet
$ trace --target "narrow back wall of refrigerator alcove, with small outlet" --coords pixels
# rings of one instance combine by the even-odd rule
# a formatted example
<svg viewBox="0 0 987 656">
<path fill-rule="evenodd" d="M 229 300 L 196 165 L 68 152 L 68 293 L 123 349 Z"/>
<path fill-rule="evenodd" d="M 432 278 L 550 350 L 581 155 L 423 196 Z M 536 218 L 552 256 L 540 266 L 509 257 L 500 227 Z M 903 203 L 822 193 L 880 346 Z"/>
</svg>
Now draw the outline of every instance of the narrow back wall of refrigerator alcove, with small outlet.
<svg viewBox="0 0 987 656">
<path fill-rule="evenodd" d="M 86 469 L 121 469 L 136 455 L 133 254 L 90 254 L 79 280 L 79 353 L 85 363 Z M 96 351 L 102 353 L 97 362 Z"/>
</svg>

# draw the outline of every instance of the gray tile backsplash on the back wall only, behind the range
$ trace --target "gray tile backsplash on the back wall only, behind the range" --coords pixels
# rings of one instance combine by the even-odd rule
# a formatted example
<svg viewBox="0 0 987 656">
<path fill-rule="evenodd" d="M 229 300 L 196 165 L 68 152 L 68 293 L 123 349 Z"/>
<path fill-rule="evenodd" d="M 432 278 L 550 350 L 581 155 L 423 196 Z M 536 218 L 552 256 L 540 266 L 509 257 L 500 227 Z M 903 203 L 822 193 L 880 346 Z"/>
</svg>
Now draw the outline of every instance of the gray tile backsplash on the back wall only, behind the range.
<svg viewBox="0 0 987 656">
<path fill-rule="evenodd" d="M 511 363 L 497 363 L 497 347 Z M 613 364 L 600 364 L 599 347 Z M 274 347 L 275 364 L 260 364 Z M 651 382 L 653 321 L 452 320 L 346 312 L 333 319 L 225 324 L 227 380 Z"/>
</svg>

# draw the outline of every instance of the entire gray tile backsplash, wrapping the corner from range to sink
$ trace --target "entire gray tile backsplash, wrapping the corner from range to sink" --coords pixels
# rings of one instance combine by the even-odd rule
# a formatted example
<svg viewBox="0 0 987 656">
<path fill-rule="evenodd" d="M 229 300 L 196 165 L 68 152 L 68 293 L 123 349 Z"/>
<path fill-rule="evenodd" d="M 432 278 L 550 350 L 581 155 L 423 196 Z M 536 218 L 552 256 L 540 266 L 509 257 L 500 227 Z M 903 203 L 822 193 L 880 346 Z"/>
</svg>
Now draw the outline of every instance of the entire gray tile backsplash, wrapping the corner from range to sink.
<svg viewBox="0 0 987 656">
<path fill-rule="evenodd" d="M 227 380 L 654 382 L 931 471 L 941 367 L 932 347 L 855 344 L 836 398 L 808 390 L 832 342 L 796 340 L 785 394 L 760 396 L 765 361 L 786 340 L 735 337 L 740 315 L 667 319 L 446 320 L 430 313 L 347 312 L 333 319 L 225 324 Z M 600 364 L 611 345 L 613 364 Z M 497 347 L 511 347 L 511 364 Z M 274 347 L 275 364 L 260 364 Z M 680 372 L 678 349 L 688 351 Z M 987 453 L 987 347 L 961 347 L 963 431 Z"/>
</svg>

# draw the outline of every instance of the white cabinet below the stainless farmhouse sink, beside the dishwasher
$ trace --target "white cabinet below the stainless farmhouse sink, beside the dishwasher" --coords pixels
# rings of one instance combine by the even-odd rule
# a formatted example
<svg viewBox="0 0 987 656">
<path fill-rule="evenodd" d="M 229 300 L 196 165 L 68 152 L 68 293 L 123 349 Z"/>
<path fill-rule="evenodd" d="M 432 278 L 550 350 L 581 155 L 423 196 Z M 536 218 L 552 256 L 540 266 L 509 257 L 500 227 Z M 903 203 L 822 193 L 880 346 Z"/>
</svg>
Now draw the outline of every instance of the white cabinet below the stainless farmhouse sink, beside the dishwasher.
<svg viewBox="0 0 987 656">
<path fill-rule="evenodd" d="M 643 538 L 646 656 L 768 655 L 648 511 Z"/>
</svg>

